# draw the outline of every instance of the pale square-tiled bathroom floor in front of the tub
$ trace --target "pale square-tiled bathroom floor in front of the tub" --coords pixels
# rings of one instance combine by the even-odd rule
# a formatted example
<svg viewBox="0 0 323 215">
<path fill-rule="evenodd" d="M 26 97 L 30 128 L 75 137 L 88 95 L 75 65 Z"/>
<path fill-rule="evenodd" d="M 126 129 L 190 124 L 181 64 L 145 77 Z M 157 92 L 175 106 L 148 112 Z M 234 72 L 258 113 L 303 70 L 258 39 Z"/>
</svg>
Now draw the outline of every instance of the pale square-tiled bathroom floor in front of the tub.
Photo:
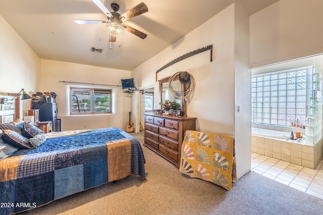
<svg viewBox="0 0 323 215">
<path fill-rule="evenodd" d="M 323 159 L 310 169 L 251 153 L 251 171 L 323 199 Z"/>
</svg>

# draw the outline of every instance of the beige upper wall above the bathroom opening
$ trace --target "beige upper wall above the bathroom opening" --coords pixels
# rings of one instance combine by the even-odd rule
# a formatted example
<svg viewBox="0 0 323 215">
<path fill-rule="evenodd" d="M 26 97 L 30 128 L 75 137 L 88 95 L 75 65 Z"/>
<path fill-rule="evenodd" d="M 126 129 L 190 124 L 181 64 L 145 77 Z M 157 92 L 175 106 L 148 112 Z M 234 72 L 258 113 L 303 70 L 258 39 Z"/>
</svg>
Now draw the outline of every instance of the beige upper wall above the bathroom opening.
<svg viewBox="0 0 323 215">
<path fill-rule="evenodd" d="M 323 1 L 280 0 L 250 16 L 250 67 L 323 53 Z"/>
</svg>

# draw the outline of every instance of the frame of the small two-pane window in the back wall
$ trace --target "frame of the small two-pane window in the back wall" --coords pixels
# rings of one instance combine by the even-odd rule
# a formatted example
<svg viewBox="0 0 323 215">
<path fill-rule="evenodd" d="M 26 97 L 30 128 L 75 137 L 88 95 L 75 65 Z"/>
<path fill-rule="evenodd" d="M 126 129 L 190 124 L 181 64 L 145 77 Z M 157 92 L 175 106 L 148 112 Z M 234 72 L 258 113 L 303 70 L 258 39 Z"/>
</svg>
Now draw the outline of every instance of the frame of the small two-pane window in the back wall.
<svg viewBox="0 0 323 215">
<path fill-rule="evenodd" d="M 90 111 L 87 112 L 72 112 L 72 91 L 73 90 L 87 90 L 90 91 Z M 110 111 L 100 111 L 100 112 L 95 112 L 94 111 L 94 92 L 95 91 L 105 91 L 105 92 L 109 92 L 110 94 L 110 100 L 109 100 L 109 105 L 110 105 Z M 112 106 L 113 106 L 113 98 L 112 98 L 112 89 L 106 89 L 106 88 L 87 88 L 87 87 L 78 87 L 78 86 L 71 86 L 70 87 L 70 91 L 69 91 L 69 112 L 71 116 L 75 116 L 75 115 L 96 115 L 96 114 L 112 114 Z"/>
</svg>

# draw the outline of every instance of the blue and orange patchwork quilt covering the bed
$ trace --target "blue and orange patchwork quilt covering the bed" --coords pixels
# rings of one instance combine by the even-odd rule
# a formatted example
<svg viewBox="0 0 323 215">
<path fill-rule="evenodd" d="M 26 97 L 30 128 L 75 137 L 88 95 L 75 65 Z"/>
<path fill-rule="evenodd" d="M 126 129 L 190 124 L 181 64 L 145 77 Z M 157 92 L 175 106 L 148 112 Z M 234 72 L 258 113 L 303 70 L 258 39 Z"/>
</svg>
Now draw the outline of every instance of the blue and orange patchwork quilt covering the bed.
<svg viewBox="0 0 323 215">
<path fill-rule="evenodd" d="M 41 206 L 131 173 L 145 179 L 137 139 L 119 128 L 47 139 L 0 161 L 0 214 Z"/>
</svg>

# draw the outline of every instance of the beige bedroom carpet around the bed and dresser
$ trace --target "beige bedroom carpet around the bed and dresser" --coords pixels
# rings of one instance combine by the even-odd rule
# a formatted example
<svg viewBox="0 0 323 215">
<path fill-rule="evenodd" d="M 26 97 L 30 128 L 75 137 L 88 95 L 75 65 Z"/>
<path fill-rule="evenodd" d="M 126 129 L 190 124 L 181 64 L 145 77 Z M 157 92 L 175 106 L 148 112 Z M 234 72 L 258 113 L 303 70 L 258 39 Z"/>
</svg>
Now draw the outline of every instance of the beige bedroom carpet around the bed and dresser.
<svg viewBox="0 0 323 215">
<path fill-rule="evenodd" d="M 322 214 L 322 199 L 259 174 L 246 174 L 228 191 L 143 151 L 147 180 L 130 175 L 21 214 Z"/>
</svg>

